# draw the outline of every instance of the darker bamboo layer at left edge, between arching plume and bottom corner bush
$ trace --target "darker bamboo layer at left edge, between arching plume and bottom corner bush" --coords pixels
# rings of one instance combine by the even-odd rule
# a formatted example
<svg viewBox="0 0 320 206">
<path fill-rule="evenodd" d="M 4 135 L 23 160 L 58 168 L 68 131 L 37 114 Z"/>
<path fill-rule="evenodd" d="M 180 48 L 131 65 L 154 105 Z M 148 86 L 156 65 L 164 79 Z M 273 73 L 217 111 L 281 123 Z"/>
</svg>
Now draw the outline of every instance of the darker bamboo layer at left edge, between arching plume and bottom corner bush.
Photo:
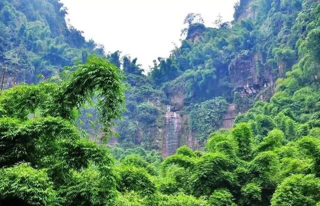
<svg viewBox="0 0 320 206">
<path fill-rule="evenodd" d="M 21 122 L 0 118 L 0 165 L 18 162 L 38 163 L 45 155 L 55 152 L 55 141 L 79 138 L 75 127 L 61 118 L 36 118 Z"/>
</svg>

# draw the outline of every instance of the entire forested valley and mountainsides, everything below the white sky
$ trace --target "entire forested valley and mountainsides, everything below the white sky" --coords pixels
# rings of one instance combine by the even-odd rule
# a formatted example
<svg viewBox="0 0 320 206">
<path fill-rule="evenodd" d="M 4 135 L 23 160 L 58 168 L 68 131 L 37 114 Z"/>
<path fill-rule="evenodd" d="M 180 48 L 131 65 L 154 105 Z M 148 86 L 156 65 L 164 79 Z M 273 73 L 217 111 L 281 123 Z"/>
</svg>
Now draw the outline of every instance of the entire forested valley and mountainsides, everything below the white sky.
<svg viewBox="0 0 320 206">
<path fill-rule="evenodd" d="M 0 206 L 319 206 L 320 2 L 234 8 L 145 75 L 57 0 L 1 0 Z"/>
</svg>

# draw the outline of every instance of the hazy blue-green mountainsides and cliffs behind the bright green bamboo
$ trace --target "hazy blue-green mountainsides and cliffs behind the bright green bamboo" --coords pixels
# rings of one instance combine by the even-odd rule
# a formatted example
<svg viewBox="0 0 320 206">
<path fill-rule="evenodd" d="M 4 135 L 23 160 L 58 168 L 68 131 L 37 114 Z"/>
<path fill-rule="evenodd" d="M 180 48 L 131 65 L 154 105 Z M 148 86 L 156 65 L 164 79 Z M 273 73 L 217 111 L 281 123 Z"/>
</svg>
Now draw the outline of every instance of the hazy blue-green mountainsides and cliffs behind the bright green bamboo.
<svg viewBox="0 0 320 206">
<path fill-rule="evenodd" d="M 130 89 L 127 112 L 114 128 L 112 145 L 142 146 L 171 155 L 182 145 L 202 149 L 210 133 L 231 128 L 237 114 L 256 100 L 268 101 L 275 81 L 298 60 L 296 41 L 306 35 L 304 11 L 316 1 L 241 0 L 233 22 L 205 27 L 189 15 L 185 39 L 169 58 L 158 58 L 148 75 L 136 58 L 105 55 L 67 26 L 66 10 L 56 0 L 3 0 L 0 3 L 0 65 L 4 87 L 56 75 L 90 53 L 123 68 Z M 5 72 L 4 72 L 5 70 Z M 55 76 L 58 77 L 58 76 Z M 169 109 L 168 109 L 169 108 Z M 80 128 L 100 135 L 85 110 Z M 90 115 L 91 116 L 91 115 Z"/>
</svg>

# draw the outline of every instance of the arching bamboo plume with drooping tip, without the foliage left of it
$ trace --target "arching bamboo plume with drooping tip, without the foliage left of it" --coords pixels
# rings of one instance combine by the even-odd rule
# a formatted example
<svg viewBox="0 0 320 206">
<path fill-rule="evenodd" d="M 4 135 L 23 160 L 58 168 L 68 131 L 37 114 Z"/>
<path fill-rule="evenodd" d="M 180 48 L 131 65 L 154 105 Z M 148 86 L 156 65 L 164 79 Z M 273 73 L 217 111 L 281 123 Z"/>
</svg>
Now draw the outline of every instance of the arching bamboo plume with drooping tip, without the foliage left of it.
<svg viewBox="0 0 320 206">
<path fill-rule="evenodd" d="M 113 134 L 112 120 L 120 118 L 124 110 L 124 89 L 121 70 L 96 56 L 89 56 L 86 64 L 77 64 L 55 96 L 57 105 L 49 113 L 53 116 L 72 119 L 72 109 L 80 108 L 87 101 L 97 97 L 96 108 L 100 115 L 103 131 Z"/>
</svg>

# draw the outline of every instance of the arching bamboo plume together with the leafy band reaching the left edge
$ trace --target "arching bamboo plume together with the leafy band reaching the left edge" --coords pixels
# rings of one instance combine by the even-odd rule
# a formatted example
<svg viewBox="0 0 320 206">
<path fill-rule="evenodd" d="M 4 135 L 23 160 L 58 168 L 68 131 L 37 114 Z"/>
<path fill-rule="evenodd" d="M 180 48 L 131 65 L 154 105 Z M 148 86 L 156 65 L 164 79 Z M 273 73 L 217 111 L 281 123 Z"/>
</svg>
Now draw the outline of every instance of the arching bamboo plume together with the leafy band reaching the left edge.
<svg viewBox="0 0 320 206">
<path fill-rule="evenodd" d="M 73 67 L 72 67 L 73 68 Z M 112 120 L 124 110 L 124 90 L 121 70 L 95 56 L 86 64 L 77 64 L 61 84 L 21 84 L 3 91 L 0 97 L 2 116 L 25 120 L 27 117 L 53 116 L 73 121 L 74 109 L 80 109 L 93 98 L 100 115 L 105 136 L 113 134 Z"/>
</svg>

